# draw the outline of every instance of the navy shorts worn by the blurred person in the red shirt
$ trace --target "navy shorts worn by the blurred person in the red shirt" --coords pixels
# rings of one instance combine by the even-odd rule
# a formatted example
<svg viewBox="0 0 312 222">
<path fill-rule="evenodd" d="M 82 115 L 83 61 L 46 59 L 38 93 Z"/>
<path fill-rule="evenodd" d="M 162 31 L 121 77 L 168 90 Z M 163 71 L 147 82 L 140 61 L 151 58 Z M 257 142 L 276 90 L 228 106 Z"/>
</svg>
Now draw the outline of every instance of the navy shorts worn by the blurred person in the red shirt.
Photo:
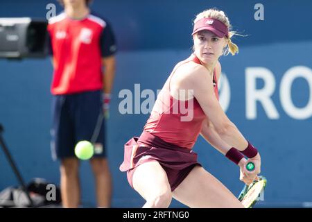
<svg viewBox="0 0 312 222">
<path fill-rule="evenodd" d="M 99 114 L 103 112 L 102 107 L 101 90 L 53 96 L 51 128 L 53 160 L 75 157 L 76 144 L 81 140 L 91 141 Z M 94 157 L 106 157 L 104 118 L 94 146 Z"/>
</svg>

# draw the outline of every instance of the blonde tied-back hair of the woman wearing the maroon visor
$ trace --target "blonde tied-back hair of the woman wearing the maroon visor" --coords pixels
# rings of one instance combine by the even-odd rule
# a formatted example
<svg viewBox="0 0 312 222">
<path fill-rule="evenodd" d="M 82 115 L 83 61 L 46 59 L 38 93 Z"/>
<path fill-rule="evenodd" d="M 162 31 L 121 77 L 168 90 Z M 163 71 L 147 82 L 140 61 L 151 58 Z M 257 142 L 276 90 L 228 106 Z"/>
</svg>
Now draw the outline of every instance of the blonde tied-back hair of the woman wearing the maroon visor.
<svg viewBox="0 0 312 222">
<path fill-rule="evenodd" d="M 211 18 L 211 19 L 218 19 L 220 22 L 223 22 L 225 26 L 229 29 L 229 37 L 225 37 L 227 40 L 227 49 L 225 49 L 224 55 L 227 56 L 229 53 L 234 56 L 236 53 L 239 53 L 239 46 L 234 44 L 231 40 L 231 38 L 234 35 L 239 35 L 235 31 L 231 31 L 232 26 L 229 23 L 229 18 L 225 15 L 225 12 L 218 10 L 216 8 L 210 8 L 203 12 L 200 12 L 198 15 L 196 15 L 196 18 L 194 19 L 194 24 L 203 18 Z M 243 35 L 241 35 L 243 36 Z"/>
</svg>

